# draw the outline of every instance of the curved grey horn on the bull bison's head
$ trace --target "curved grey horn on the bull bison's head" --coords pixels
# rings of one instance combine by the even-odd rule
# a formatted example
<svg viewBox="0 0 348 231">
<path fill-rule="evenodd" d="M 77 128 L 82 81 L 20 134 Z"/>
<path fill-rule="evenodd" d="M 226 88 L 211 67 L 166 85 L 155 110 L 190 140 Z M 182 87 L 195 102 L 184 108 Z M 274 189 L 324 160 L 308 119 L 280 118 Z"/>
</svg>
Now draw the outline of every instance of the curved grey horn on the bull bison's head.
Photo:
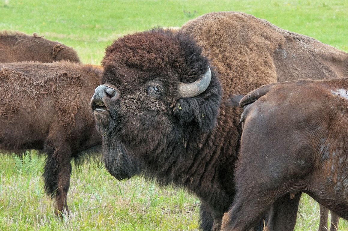
<svg viewBox="0 0 348 231">
<path fill-rule="evenodd" d="M 195 82 L 191 82 L 191 83 L 180 82 L 178 94 L 181 98 L 195 97 L 201 94 L 203 91 L 205 91 L 208 88 L 211 79 L 212 79 L 212 72 L 210 71 L 210 68 L 208 66 L 208 70 L 204 73 L 204 75 L 200 79 L 196 80 Z"/>
</svg>

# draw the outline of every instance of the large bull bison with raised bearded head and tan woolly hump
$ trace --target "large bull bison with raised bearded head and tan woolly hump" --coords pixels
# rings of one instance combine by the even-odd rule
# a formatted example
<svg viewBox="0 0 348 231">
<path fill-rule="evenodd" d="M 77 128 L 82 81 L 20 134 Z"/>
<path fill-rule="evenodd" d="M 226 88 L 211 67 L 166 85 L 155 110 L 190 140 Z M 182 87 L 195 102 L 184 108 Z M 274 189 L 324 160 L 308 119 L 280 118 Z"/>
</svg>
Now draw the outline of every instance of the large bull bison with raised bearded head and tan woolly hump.
<svg viewBox="0 0 348 231">
<path fill-rule="evenodd" d="M 102 64 L 91 105 L 106 169 L 119 180 L 143 175 L 188 189 L 201 200 L 200 228 L 219 230 L 235 196 L 242 133 L 242 110 L 225 101 L 266 83 L 343 77 L 348 54 L 251 15 L 221 12 L 177 32 L 126 35 Z M 291 212 L 283 230 L 295 225 L 300 195 L 281 198 Z"/>
</svg>

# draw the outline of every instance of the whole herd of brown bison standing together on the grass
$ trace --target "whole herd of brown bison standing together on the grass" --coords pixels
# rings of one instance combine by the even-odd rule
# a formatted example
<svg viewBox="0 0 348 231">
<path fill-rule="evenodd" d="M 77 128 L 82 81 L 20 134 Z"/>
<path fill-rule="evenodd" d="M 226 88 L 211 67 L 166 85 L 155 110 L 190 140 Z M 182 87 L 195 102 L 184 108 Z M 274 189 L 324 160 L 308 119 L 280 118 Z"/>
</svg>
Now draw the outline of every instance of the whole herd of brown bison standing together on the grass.
<svg viewBox="0 0 348 231">
<path fill-rule="evenodd" d="M 125 35 L 102 66 L 2 31 L 0 62 L 0 151 L 46 154 L 58 216 L 69 211 L 71 161 L 99 158 L 118 180 L 195 194 L 201 230 L 293 230 L 303 192 L 321 205 L 319 230 L 329 209 L 331 231 L 348 219 L 343 51 L 218 12 Z"/>
</svg>

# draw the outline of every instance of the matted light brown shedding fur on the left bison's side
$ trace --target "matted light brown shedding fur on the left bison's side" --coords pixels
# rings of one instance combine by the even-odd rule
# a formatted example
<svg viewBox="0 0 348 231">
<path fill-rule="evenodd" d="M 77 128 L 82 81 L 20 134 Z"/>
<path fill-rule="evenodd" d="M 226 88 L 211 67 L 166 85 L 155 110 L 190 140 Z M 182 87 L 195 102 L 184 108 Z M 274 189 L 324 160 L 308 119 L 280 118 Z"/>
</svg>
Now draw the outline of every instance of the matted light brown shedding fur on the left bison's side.
<svg viewBox="0 0 348 231">
<path fill-rule="evenodd" d="M 42 98 L 53 95 L 55 110 L 60 125 L 67 126 L 74 122 L 79 106 L 79 94 L 82 80 L 79 73 L 47 73 L 42 79 L 34 79 L 9 67 L 0 69 L 0 116 L 9 120 L 19 110 L 22 100 L 30 101 L 29 107 L 40 106 Z M 64 105 L 64 106 L 62 106 Z"/>
</svg>

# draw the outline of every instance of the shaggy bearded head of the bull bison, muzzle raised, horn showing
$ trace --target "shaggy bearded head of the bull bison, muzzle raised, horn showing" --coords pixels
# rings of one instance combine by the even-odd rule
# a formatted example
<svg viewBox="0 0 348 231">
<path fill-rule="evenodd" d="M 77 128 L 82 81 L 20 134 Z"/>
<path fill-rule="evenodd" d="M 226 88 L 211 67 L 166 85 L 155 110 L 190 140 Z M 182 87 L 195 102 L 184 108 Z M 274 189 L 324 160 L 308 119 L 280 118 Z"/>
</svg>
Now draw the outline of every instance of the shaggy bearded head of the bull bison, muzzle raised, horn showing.
<svg viewBox="0 0 348 231">
<path fill-rule="evenodd" d="M 214 128 L 221 86 L 201 51 L 188 35 L 162 29 L 106 49 L 91 105 L 114 177 L 177 177 Z"/>
</svg>

